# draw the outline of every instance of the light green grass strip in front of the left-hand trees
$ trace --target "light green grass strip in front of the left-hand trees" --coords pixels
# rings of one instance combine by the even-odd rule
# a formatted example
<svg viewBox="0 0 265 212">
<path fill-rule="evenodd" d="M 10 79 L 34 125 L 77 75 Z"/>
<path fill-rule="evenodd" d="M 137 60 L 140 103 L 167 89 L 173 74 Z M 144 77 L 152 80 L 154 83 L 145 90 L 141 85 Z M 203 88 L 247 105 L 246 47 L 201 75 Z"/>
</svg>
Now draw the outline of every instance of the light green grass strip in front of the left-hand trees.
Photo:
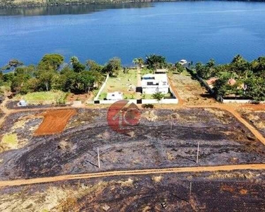
<svg viewBox="0 0 265 212">
<path fill-rule="evenodd" d="M 45 105 L 64 103 L 67 93 L 62 91 L 47 91 L 16 95 L 15 100 L 25 100 L 29 105 Z"/>
</svg>

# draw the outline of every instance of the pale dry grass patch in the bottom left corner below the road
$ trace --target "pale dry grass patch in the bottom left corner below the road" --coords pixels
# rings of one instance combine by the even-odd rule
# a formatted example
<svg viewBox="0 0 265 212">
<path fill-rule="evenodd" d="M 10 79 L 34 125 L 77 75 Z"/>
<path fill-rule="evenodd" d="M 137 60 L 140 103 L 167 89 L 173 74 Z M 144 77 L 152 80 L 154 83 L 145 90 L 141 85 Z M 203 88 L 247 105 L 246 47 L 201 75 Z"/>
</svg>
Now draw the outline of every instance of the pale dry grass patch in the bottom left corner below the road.
<svg viewBox="0 0 265 212">
<path fill-rule="evenodd" d="M 0 198 L 0 211 L 79 211 L 78 199 L 88 194 L 99 194 L 107 182 L 86 186 L 78 184 L 72 187 L 49 187 L 43 192 L 4 194 Z"/>
</svg>

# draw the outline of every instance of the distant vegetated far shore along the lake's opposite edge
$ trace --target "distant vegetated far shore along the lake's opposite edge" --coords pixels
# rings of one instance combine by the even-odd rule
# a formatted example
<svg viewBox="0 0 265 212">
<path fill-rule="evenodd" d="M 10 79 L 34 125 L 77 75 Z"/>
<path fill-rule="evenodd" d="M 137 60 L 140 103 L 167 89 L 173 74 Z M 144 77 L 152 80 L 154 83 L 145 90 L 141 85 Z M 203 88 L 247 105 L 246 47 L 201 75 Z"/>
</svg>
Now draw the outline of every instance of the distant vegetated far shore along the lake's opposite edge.
<svg viewBox="0 0 265 212">
<path fill-rule="evenodd" d="M 29 0 L 16 3 L 16 0 L 4 0 L 0 2 L 0 8 L 30 8 L 39 6 L 75 6 L 75 5 L 102 5 L 102 4 L 125 4 L 125 3 L 144 3 L 144 2 L 170 2 L 170 1 L 248 1 L 248 2 L 265 2 L 265 0 L 54 0 L 50 2 L 40 2 Z M 49 1 L 49 0 L 46 0 Z"/>
</svg>

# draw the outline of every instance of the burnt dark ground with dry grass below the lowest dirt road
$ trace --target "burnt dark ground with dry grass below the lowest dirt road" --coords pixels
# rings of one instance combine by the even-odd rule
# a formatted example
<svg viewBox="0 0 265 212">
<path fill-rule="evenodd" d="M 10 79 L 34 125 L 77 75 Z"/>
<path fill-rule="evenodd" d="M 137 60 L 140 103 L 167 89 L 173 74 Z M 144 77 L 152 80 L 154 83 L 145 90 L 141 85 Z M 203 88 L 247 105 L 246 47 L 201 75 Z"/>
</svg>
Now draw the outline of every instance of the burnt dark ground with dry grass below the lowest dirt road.
<svg viewBox="0 0 265 212">
<path fill-rule="evenodd" d="M 0 190 L 0 211 L 265 211 L 264 173 L 81 179 Z"/>
</svg>

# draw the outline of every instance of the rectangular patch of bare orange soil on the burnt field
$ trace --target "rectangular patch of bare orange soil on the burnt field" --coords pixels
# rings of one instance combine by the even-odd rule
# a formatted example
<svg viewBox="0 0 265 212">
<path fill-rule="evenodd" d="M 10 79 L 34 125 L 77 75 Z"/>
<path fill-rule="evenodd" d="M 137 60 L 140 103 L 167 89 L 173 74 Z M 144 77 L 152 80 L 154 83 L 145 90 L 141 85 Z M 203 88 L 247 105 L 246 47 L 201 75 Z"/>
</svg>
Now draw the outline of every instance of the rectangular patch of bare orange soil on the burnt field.
<svg viewBox="0 0 265 212">
<path fill-rule="evenodd" d="M 48 110 L 40 114 L 44 119 L 35 131 L 36 136 L 58 134 L 64 130 L 69 119 L 76 114 L 76 110 Z"/>
</svg>

